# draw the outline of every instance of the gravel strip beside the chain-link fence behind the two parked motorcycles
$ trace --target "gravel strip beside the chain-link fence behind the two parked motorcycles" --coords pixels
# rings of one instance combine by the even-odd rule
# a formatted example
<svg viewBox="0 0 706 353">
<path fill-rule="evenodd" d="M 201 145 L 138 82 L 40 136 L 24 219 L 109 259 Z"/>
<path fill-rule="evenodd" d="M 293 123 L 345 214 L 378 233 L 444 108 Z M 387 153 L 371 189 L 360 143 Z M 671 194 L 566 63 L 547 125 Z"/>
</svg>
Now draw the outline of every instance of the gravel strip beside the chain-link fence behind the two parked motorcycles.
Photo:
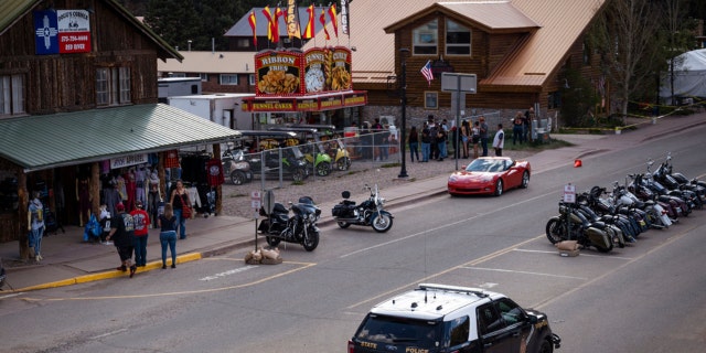
<svg viewBox="0 0 706 353">
<path fill-rule="evenodd" d="M 503 151 L 503 154 L 515 159 L 524 159 L 532 153 L 531 150 Z M 490 154 L 493 154 L 492 149 Z M 449 153 L 449 156 L 452 156 L 452 153 Z M 459 168 L 468 164 L 471 160 L 459 159 Z M 456 160 L 452 158 L 445 159 L 441 162 L 411 163 L 407 154 L 406 169 L 409 176 L 405 181 L 398 178 L 399 163 L 399 153 L 391 154 L 388 160 L 382 162 L 354 160 L 347 171 L 332 171 L 327 176 L 314 178 L 310 175 L 302 184 L 295 184 L 291 180 L 284 180 L 281 188 L 279 188 L 279 181 L 268 180 L 265 183 L 265 189 L 271 189 L 275 201 L 285 204 L 289 201 L 296 202 L 303 195 L 313 197 L 317 203 L 325 203 L 341 200 L 341 192 L 344 190 L 350 190 L 351 193 L 356 194 L 366 183 L 371 185 L 377 183 L 381 191 L 384 192 L 385 189 L 393 188 L 400 182 L 415 182 L 416 180 L 437 175 L 448 175 L 456 170 Z M 441 184 L 439 188 L 446 188 L 446 184 Z M 233 185 L 226 178 L 226 183 L 223 185 L 222 213 L 229 216 L 252 217 L 250 193 L 260 189 L 261 182 L 258 178 L 243 185 Z M 362 200 L 355 201 L 360 202 Z M 328 210 L 324 210 L 324 212 L 328 212 Z"/>
</svg>

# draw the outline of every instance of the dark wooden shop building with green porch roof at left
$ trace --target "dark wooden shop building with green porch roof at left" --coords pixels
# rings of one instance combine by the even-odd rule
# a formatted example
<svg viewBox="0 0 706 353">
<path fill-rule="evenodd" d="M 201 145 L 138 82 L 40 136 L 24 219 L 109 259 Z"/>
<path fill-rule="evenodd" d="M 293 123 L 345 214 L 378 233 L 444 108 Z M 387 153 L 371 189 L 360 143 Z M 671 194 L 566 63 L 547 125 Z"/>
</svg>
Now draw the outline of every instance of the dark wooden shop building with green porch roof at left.
<svg viewBox="0 0 706 353">
<path fill-rule="evenodd" d="M 0 242 L 19 240 L 21 258 L 32 191 L 63 225 L 82 226 L 104 176 L 147 165 L 164 195 L 168 151 L 220 154 L 237 136 L 158 104 L 157 62 L 183 57 L 118 1 L 0 1 Z"/>
</svg>

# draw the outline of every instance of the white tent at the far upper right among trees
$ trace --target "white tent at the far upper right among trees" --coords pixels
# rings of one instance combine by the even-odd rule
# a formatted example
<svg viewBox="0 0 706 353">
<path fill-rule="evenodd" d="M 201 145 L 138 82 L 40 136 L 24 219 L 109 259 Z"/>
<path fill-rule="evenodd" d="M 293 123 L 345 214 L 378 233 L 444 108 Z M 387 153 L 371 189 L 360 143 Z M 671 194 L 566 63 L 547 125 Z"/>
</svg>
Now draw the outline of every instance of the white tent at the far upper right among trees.
<svg viewBox="0 0 706 353">
<path fill-rule="evenodd" d="M 672 88 L 666 74 L 660 87 L 660 97 L 670 98 Z M 686 52 L 675 61 L 674 97 L 706 97 L 706 49 Z"/>
</svg>

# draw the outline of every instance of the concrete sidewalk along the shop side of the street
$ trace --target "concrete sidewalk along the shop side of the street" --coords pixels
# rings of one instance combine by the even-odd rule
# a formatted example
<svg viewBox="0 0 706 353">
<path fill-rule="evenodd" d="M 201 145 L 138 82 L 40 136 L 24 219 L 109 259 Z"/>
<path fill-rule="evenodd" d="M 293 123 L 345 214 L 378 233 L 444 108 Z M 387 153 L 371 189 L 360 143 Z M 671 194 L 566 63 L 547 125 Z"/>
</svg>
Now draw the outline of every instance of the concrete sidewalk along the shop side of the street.
<svg viewBox="0 0 706 353">
<path fill-rule="evenodd" d="M 574 146 L 545 150 L 527 158 L 527 160 L 532 163 L 534 174 L 543 173 L 555 168 L 573 165 L 575 159 L 627 148 L 661 137 L 665 132 L 681 131 L 700 124 L 706 124 L 706 114 L 666 117 L 660 119 L 656 125 L 646 122 L 639 126 L 637 130 L 623 130 L 620 135 L 552 135 L 552 138 L 566 140 Z M 600 143 L 597 143 L 598 140 Z M 443 174 L 414 182 L 400 180 L 398 185 L 388 188 L 384 192 L 387 207 L 394 211 L 396 206 L 407 204 L 416 199 L 446 193 L 447 179 L 448 175 Z M 330 210 L 339 201 L 334 199 L 319 203 L 322 210 L 320 225 L 333 222 Z M 178 264 L 223 254 L 235 248 L 254 248 L 255 246 L 254 220 L 233 216 L 197 217 L 188 221 L 186 229 L 189 237 L 176 242 Z M 65 234 L 60 231 L 57 235 L 52 234 L 44 237 L 42 256 L 45 259 L 41 264 L 35 264 L 32 260 L 21 263 L 18 258 L 19 245 L 17 242 L 0 244 L 0 258 L 6 264 L 8 271 L 2 293 L 128 276 L 127 272 L 115 270 L 119 265 L 115 246 L 83 243 L 83 228 L 76 226 L 67 226 L 65 231 Z M 258 246 L 266 245 L 263 236 L 259 236 L 257 242 Z M 148 270 L 161 270 L 161 246 L 158 229 L 150 229 L 147 255 L 147 267 L 138 268 L 138 275 Z"/>
</svg>

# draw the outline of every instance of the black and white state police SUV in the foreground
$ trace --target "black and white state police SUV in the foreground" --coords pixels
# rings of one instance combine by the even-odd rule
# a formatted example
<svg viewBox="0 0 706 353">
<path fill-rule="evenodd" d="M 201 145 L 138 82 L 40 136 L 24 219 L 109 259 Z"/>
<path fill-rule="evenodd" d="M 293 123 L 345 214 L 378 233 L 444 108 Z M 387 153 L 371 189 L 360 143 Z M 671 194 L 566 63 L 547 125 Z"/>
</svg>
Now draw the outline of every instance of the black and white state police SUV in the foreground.
<svg viewBox="0 0 706 353">
<path fill-rule="evenodd" d="M 561 339 L 547 315 L 504 295 L 421 284 L 373 307 L 349 353 L 554 352 Z"/>
</svg>

